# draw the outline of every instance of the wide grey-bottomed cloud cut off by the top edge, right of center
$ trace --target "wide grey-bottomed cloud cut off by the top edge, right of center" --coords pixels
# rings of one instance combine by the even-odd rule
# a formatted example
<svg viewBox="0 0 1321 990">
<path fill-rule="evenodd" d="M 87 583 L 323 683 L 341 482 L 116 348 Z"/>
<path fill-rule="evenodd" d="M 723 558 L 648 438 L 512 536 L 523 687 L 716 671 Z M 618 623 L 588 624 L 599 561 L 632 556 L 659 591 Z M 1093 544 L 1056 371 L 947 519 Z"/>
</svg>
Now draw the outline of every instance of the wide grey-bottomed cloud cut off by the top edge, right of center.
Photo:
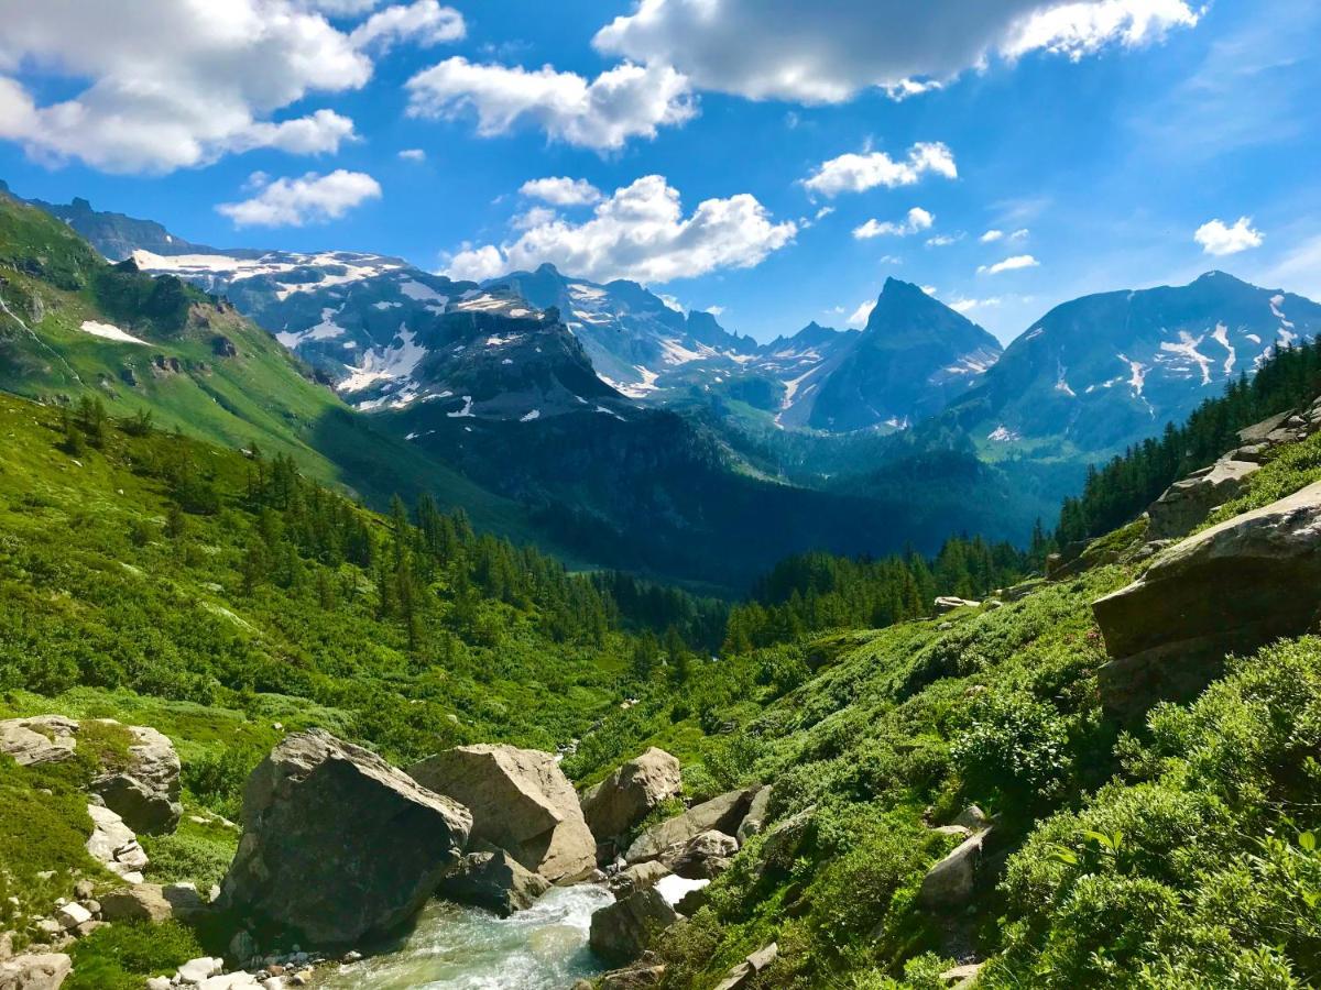
<svg viewBox="0 0 1321 990">
<path fill-rule="evenodd" d="M 1081 58 L 1197 24 L 1188 0 L 641 0 L 593 44 L 671 65 L 701 90 L 840 103 L 880 87 L 902 99 L 999 55 Z"/>
</svg>

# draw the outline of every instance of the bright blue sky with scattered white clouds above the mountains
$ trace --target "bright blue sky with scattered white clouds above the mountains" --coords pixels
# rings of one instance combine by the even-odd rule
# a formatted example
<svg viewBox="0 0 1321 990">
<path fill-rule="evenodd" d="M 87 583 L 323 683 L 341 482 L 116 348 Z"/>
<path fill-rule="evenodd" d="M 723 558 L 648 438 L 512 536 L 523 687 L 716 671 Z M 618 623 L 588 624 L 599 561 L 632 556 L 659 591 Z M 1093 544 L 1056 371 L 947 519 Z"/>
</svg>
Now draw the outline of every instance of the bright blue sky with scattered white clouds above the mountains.
<svg viewBox="0 0 1321 990">
<path fill-rule="evenodd" d="M 1005 341 L 1211 268 L 1321 297 L 1310 0 L 133 9 L 0 0 L 17 193 L 218 246 L 551 260 L 761 339 L 856 322 L 890 275 Z"/>
</svg>

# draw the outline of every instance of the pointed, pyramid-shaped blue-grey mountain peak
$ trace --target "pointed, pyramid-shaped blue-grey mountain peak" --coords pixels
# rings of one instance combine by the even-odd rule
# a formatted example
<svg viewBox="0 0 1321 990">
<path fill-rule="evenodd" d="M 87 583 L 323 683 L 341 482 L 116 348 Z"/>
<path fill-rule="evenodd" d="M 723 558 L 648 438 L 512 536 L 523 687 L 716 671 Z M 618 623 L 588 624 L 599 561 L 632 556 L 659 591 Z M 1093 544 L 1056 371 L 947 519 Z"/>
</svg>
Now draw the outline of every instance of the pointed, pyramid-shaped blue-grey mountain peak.
<svg viewBox="0 0 1321 990">
<path fill-rule="evenodd" d="M 815 392 L 810 425 L 909 426 L 938 413 L 1000 356 L 1000 343 L 917 285 L 886 279 L 867 329 Z"/>
</svg>

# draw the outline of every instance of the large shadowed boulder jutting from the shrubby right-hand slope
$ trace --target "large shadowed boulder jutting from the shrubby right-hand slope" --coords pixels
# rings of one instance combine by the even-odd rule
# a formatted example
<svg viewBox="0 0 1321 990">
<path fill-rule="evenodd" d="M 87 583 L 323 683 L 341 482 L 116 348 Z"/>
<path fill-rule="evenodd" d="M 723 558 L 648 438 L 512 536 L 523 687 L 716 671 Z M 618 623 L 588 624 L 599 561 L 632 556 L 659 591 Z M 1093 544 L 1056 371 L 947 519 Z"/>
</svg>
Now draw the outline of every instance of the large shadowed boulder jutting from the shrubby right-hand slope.
<svg viewBox="0 0 1321 990">
<path fill-rule="evenodd" d="M 1226 653 L 1296 636 L 1318 618 L 1321 483 L 1176 544 L 1092 611 L 1112 657 L 1098 673 L 1111 714 L 1192 697 Z"/>
</svg>

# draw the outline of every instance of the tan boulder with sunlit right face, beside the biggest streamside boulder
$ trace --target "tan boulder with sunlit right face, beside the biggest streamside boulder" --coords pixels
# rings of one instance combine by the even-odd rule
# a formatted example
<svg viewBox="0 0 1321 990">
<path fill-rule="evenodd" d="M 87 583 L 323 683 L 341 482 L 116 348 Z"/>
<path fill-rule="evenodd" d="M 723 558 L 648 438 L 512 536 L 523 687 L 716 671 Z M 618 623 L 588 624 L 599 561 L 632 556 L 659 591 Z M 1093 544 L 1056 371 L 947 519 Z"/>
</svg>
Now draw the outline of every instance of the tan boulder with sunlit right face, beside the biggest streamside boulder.
<svg viewBox="0 0 1321 990">
<path fill-rule="evenodd" d="M 423 787 L 473 816 L 473 838 L 509 853 L 552 883 L 596 869 L 596 840 L 555 758 L 513 746 L 460 746 L 408 768 Z"/>
</svg>

